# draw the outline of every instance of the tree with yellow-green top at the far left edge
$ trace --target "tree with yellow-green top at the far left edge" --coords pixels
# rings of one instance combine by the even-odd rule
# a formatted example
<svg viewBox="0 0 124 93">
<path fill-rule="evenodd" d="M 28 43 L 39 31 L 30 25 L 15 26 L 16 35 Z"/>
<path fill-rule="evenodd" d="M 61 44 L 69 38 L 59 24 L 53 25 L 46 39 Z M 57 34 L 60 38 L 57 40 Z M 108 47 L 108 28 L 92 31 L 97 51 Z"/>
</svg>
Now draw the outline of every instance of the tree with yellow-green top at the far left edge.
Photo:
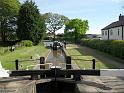
<svg viewBox="0 0 124 93">
<path fill-rule="evenodd" d="M 2 41 L 7 39 L 7 22 L 18 14 L 20 3 L 18 0 L 0 0 L 0 34 Z"/>
</svg>

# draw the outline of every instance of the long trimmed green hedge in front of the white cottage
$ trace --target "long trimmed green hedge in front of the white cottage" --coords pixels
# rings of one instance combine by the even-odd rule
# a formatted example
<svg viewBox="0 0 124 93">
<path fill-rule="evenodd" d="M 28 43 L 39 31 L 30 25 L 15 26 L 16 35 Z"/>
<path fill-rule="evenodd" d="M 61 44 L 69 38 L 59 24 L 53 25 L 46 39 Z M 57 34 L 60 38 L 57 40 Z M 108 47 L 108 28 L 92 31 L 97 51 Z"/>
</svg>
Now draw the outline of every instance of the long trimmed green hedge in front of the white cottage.
<svg viewBox="0 0 124 93">
<path fill-rule="evenodd" d="M 124 59 L 124 40 L 82 39 L 81 44 Z"/>
</svg>

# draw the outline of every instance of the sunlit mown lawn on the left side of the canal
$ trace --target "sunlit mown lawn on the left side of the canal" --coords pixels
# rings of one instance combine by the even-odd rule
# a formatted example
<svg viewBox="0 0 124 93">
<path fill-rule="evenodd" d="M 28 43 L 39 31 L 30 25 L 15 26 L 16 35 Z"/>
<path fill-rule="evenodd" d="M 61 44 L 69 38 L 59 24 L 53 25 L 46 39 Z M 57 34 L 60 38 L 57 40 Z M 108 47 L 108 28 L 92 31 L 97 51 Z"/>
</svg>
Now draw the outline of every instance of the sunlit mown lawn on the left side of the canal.
<svg viewBox="0 0 124 93">
<path fill-rule="evenodd" d="M 2 63 L 2 66 L 5 69 L 13 70 L 15 69 L 15 60 L 28 60 L 32 59 L 39 59 L 40 56 L 46 56 L 49 49 L 45 48 L 43 45 L 37 45 L 32 47 L 22 47 L 19 49 L 16 49 L 13 52 L 8 52 L 3 55 L 0 55 L 0 61 Z M 29 62 L 19 62 L 21 69 L 26 69 L 28 65 L 36 64 L 39 61 L 29 61 Z"/>
</svg>

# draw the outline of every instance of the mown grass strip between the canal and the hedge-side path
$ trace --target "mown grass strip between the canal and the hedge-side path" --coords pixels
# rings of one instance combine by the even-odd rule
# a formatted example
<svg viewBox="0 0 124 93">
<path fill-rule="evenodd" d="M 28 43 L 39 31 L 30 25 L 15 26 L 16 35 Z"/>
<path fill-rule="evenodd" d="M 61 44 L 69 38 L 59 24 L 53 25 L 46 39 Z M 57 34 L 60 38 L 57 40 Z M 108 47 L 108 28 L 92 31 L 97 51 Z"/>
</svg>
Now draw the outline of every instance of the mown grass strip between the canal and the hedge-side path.
<svg viewBox="0 0 124 93">
<path fill-rule="evenodd" d="M 72 62 L 76 62 L 81 69 L 92 69 L 92 59 L 96 59 L 96 69 L 116 68 L 115 65 L 103 62 L 93 55 L 86 53 L 88 50 L 84 52 L 83 47 L 68 45 L 67 51 L 72 57 Z"/>
</svg>

